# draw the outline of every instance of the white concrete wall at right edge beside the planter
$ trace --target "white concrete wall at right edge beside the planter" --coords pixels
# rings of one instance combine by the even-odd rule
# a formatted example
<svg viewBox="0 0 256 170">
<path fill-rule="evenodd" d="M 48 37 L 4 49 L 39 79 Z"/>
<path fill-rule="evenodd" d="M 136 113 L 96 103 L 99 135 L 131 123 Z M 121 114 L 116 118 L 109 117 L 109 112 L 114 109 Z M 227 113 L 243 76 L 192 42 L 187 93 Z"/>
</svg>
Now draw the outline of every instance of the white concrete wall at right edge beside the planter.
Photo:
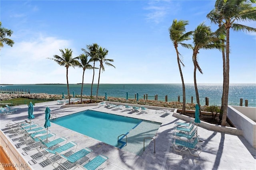
<svg viewBox="0 0 256 170">
<path fill-rule="evenodd" d="M 256 122 L 245 115 L 248 114 L 251 109 L 249 107 L 241 107 L 242 106 L 228 106 L 227 116 L 237 129 L 242 130 L 244 138 L 254 148 L 256 148 Z M 239 108 L 239 110 L 243 111 L 243 113 L 235 108 Z"/>
</svg>

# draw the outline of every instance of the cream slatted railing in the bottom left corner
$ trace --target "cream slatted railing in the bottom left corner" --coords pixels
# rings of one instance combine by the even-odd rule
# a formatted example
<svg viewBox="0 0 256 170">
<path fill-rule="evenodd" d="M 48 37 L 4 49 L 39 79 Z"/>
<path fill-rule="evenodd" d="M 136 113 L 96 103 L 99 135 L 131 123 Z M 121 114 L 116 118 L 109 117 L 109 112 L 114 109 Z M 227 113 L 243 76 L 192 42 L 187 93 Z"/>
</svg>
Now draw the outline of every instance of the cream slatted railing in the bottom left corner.
<svg viewBox="0 0 256 170">
<path fill-rule="evenodd" d="M 33 170 L 2 130 L 0 130 L 0 145 L 11 160 L 10 163 L 5 164 L 6 167 L 15 167 L 17 170 Z"/>
</svg>

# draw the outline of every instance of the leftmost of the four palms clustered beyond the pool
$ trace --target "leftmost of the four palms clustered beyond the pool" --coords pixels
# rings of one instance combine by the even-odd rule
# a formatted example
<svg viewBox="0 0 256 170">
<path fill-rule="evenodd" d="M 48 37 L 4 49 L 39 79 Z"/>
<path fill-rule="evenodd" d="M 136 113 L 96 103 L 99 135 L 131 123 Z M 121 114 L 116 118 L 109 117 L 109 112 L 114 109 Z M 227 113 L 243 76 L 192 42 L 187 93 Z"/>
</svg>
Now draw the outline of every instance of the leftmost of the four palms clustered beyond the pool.
<svg viewBox="0 0 256 170">
<path fill-rule="evenodd" d="M 69 85 L 68 85 L 68 68 L 69 66 L 78 66 L 80 63 L 78 61 L 79 57 L 72 58 L 73 51 L 71 49 L 65 49 L 65 52 L 60 49 L 61 57 L 58 55 L 54 55 L 52 58 L 47 58 L 54 60 L 56 63 L 58 63 L 60 66 L 66 67 L 66 78 L 67 78 L 67 88 L 68 88 L 68 99 L 70 104 L 70 92 L 69 92 Z"/>
</svg>

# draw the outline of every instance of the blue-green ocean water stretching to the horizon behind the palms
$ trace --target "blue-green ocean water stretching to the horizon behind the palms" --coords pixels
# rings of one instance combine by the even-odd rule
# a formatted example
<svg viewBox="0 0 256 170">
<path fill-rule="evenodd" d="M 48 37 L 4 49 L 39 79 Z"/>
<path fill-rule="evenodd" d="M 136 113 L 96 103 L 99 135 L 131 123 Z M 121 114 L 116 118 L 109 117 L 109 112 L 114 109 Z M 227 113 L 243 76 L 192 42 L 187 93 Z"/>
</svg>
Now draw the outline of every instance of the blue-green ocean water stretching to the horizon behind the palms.
<svg viewBox="0 0 256 170">
<path fill-rule="evenodd" d="M 76 95 L 81 94 L 82 84 L 70 84 L 70 95 L 73 91 Z M 196 94 L 194 84 L 185 84 L 186 88 L 186 103 L 191 103 L 191 96 L 193 96 L 193 103 L 196 103 Z M 0 90 L 26 90 L 30 93 L 47 93 L 47 94 L 68 94 L 66 84 L 17 84 L 4 85 Z M 97 84 L 93 85 L 93 96 L 96 96 Z M 135 94 L 139 94 L 139 98 L 144 98 L 144 94 L 148 94 L 148 100 L 154 100 L 155 95 L 158 95 L 159 101 L 165 101 L 165 96 L 168 96 L 168 102 L 178 101 L 182 102 L 182 84 L 100 84 L 98 96 L 107 96 L 134 99 Z M 200 104 L 205 105 L 205 98 L 209 98 L 209 105 L 221 106 L 222 84 L 198 84 L 198 92 Z M 91 84 L 84 84 L 83 95 L 90 96 Z M 249 107 L 256 107 L 256 84 L 230 84 L 228 104 L 239 106 L 240 98 L 243 99 L 243 106 L 245 100 L 248 100 Z"/>
</svg>

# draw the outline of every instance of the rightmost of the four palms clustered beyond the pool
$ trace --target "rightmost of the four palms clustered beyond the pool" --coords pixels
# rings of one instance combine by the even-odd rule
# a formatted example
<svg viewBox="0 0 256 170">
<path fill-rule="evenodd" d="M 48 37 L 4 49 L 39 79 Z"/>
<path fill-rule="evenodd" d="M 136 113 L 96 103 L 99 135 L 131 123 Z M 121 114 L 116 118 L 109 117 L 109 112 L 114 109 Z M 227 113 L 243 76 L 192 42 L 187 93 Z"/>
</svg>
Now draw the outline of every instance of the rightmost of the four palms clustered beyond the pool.
<svg viewBox="0 0 256 170">
<path fill-rule="evenodd" d="M 106 59 L 106 56 L 108 55 L 108 50 L 105 48 L 100 47 L 98 50 L 98 59 L 100 60 L 100 70 L 105 71 L 103 63 L 105 63 L 107 66 L 112 66 L 116 68 L 114 65 L 110 64 L 109 62 L 114 62 L 113 59 Z M 98 102 L 98 90 L 99 90 L 99 84 L 100 84 L 100 70 L 99 70 L 99 78 L 98 78 L 98 86 L 97 86 L 97 93 L 96 93 L 96 102 Z"/>
</svg>

